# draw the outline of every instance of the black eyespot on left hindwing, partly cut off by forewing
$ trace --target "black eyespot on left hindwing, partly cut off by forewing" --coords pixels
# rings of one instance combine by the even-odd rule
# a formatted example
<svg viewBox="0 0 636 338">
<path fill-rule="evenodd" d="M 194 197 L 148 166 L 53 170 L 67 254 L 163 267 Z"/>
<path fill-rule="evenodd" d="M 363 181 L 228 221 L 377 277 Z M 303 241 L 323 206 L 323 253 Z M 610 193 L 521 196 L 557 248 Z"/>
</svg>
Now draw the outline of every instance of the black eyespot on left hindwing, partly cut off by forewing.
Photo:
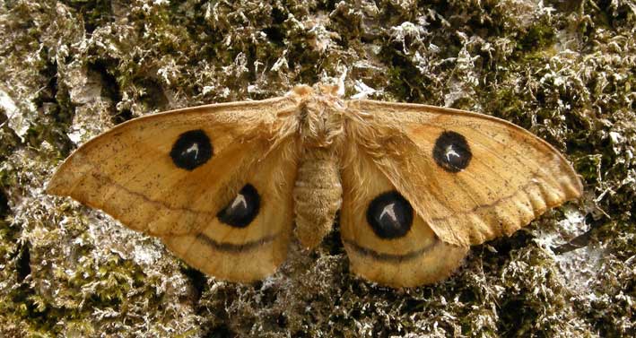
<svg viewBox="0 0 636 338">
<path fill-rule="evenodd" d="M 257 189 L 247 184 L 240 189 L 230 204 L 216 214 L 216 218 L 231 227 L 245 228 L 257 218 L 259 208 L 260 196 Z"/>
</svg>

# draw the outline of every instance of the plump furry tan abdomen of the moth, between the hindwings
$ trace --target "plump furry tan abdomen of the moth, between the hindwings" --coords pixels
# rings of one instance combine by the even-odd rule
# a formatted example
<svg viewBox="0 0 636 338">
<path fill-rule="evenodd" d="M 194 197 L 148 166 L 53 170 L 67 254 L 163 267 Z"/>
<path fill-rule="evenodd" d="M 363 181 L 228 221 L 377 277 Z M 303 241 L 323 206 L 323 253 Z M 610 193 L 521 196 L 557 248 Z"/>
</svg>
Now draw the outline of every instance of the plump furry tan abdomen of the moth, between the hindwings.
<svg viewBox="0 0 636 338">
<path fill-rule="evenodd" d="M 343 187 L 335 154 L 309 148 L 302 155 L 293 189 L 295 235 L 303 247 L 317 247 L 331 230 L 342 204 Z"/>
</svg>

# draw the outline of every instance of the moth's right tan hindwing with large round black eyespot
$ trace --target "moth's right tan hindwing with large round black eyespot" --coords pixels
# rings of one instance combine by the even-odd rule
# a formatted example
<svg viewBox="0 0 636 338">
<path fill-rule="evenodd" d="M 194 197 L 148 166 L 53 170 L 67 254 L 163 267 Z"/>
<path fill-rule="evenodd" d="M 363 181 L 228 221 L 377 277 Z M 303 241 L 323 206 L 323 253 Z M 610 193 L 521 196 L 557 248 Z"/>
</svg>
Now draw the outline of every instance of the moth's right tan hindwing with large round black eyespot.
<svg viewBox="0 0 636 338">
<path fill-rule="evenodd" d="M 340 227 L 353 273 L 392 287 L 448 277 L 468 248 L 441 241 L 361 151 L 350 144 L 342 170 Z"/>
</svg>

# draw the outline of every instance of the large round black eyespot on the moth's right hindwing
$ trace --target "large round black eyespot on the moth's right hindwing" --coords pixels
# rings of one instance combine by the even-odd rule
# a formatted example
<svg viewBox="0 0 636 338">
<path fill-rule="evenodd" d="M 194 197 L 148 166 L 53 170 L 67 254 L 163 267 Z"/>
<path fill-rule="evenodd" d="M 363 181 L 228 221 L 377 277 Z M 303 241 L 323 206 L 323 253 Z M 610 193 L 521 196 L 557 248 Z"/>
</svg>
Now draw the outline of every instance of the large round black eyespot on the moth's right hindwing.
<svg viewBox="0 0 636 338">
<path fill-rule="evenodd" d="M 367 222 L 379 238 L 400 238 L 411 230 L 413 207 L 403 195 L 389 191 L 371 201 L 367 209 Z"/>
</svg>

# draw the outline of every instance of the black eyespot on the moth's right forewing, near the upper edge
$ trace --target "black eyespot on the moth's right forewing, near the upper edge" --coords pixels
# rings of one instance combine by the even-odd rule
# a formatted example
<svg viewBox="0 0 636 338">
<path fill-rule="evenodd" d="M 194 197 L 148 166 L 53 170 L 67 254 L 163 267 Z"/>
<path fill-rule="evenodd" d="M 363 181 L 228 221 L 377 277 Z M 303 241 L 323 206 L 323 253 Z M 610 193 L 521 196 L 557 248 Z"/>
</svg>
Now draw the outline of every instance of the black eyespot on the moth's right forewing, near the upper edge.
<svg viewBox="0 0 636 338">
<path fill-rule="evenodd" d="M 468 167 L 473 153 L 462 134 L 443 132 L 435 141 L 433 159 L 442 169 L 457 173 Z"/>
</svg>

